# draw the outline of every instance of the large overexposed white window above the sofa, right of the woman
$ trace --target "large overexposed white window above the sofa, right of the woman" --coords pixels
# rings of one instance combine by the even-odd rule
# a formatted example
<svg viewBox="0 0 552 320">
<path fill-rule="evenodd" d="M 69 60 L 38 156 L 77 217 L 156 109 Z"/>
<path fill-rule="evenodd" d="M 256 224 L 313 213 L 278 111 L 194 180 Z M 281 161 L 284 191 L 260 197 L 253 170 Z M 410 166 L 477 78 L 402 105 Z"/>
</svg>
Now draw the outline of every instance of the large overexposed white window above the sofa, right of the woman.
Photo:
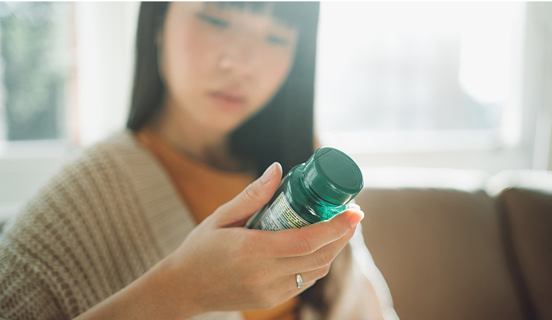
<svg viewBox="0 0 552 320">
<path fill-rule="evenodd" d="M 321 3 L 321 141 L 353 154 L 516 146 L 524 5 Z"/>
</svg>

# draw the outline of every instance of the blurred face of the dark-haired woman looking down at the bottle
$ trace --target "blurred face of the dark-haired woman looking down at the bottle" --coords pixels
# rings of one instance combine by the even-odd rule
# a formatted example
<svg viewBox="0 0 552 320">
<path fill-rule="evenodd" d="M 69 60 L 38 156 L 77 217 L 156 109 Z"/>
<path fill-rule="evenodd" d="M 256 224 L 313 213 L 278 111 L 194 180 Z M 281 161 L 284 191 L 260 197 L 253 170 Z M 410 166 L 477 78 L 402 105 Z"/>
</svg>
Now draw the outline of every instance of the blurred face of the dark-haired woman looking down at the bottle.
<svg viewBox="0 0 552 320">
<path fill-rule="evenodd" d="M 214 3 L 171 3 L 162 33 L 168 117 L 227 134 L 259 111 L 286 79 L 297 32 L 269 14 Z"/>
</svg>

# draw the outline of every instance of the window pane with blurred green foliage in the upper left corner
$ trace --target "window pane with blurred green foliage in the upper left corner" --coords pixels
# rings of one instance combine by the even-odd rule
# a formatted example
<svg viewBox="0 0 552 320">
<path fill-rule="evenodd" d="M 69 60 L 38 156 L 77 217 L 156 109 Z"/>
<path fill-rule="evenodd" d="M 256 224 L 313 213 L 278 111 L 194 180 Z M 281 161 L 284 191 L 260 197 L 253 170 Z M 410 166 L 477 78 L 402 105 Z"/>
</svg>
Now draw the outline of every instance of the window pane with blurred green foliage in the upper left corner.
<svg viewBox="0 0 552 320">
<path fill-rule="evenodd" d="M 67 139 L 71 3 L 0 9 L 0 141 Z"/>
</svg>

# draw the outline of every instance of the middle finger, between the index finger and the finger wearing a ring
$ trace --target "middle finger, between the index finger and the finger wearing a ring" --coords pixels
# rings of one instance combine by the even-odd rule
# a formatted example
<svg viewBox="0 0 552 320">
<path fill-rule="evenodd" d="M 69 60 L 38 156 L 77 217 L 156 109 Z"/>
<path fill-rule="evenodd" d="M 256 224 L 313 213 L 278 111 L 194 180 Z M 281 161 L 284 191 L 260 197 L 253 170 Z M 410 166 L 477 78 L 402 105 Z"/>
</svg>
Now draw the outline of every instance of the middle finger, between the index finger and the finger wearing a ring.
<svg viewBox="0 0 552 320">
<path fill-rule="evenodd" d="M 351 240 L 354 235 L 354 231 L 354 228 L 351 229 L 345 236 L 330 244 L 326 244 L 321 249 L 310 253 L 310 255 L 279 259 L 277 262 L 280 266 L 279 268 L 286 273 L 305 273 L 327 266 L 334 261 L 341 250 L 349 243 L 349 240 Z"/>
</svg>

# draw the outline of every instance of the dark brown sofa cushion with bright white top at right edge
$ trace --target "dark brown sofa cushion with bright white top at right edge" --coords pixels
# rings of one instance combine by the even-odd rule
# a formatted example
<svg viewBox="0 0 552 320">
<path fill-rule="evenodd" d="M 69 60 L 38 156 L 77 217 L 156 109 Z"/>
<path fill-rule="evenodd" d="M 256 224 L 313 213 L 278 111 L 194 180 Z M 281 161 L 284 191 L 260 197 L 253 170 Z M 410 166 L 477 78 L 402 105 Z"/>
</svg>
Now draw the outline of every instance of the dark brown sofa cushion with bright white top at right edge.
<svg viewBox="0 0 552 320">
<path fill-rule="evenodd" d="M 529 319 L 552 319 L 552 172 L 501 172 L 489 189 L 498 193 L 509 265 L 525 312 Z"/>
</svg>

